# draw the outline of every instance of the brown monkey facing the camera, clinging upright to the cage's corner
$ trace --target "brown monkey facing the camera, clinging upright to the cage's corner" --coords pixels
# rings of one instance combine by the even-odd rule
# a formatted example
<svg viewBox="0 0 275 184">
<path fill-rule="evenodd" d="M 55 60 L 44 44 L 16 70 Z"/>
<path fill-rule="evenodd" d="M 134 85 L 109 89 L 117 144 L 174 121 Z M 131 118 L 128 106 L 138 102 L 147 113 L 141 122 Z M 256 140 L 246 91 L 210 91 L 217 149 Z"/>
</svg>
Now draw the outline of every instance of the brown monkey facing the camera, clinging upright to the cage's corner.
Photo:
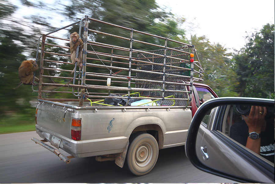
<svg viewBox="0 0 275 184">
<path fill-rule="evenodd" d="M 78 51 L 78 58 L 76 57 L 76 48 L 79 46 L 79 51 Z M 77 66 L 79 68 L 82 68 L 82 48 L 83 48 L 83 42 L 79 38 L 79 35 L 77 32 L 73 32 L 70 35 L 70 50 L 71 50 L 71 62 L 72 64 L 75 64 L 77 62 Z M 75 68 L 71 72 L 71 74 L 75 72 Z"/>
</svg>

